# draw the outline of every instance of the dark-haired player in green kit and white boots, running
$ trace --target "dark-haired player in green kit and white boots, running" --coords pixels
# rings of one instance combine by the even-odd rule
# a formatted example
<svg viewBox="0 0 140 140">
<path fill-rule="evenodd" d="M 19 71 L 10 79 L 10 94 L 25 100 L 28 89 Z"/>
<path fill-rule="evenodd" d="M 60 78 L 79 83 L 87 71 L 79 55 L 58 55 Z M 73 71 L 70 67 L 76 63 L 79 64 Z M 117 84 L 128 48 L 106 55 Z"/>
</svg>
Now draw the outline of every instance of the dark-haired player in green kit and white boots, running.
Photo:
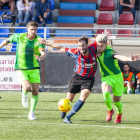
<svg viewBox="0 0 140 140">
<path fill-rule="evenodd" d="M 35 120 L 34 111 L 39 98 L 40 73 L 38 60 L 46 58 L 45 45 L 39 44 L 36 35 L 38 23 L 29 21 L 27 33 L 11 35 L 0 44 L 0 48 L 8 43 L 17 42 L 15 70 L 22 85 L 22 105 L 28 107 L 28 92 L 32 90 L 31 107 L 28 119 Z"/>
</svg>

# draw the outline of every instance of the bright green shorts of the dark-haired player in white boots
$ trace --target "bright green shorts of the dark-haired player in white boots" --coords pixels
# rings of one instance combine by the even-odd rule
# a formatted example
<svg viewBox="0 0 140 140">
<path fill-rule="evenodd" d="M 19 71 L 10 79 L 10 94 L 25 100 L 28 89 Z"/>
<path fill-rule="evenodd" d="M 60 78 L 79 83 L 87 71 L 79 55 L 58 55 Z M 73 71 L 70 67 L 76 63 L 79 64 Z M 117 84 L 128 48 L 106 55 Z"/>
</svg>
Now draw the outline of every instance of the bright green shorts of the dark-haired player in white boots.
<svg viewBox="0 0 140 140">
<path fill-rule="evenodd" d="M 18 79 L 20 83 L 28 80 L 30 83 L 39 83 L 40 84 L 40 73 L 39 69 L 32 70 L 17 70 Z"/>
</svg>

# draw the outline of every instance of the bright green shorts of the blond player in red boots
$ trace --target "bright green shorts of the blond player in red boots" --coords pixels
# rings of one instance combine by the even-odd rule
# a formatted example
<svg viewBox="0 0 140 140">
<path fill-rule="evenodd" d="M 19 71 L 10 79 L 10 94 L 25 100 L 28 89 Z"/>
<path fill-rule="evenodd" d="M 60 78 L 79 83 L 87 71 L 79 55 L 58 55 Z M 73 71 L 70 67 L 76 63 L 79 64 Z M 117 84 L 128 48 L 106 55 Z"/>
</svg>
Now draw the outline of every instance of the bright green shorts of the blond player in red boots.
<svg viewBox="0 0 140 140">
<path fill-rule="evenodd" d="M 101 78 L 102 84 L 107 84 L 112 87 L 112 92 L 115 96 L 122 96 L 124 91 L 122 73 L 116 75 L 105 76 Z"/>
</svg>

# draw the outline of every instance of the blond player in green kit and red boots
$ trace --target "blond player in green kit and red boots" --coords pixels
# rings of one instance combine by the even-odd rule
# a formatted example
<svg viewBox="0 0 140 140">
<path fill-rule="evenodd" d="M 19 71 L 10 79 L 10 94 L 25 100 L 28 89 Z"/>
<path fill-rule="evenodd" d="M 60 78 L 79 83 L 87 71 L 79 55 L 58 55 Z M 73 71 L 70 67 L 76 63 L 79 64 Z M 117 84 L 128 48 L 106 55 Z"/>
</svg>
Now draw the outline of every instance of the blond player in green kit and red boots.
<svg viewBox="0 0 140 140">
<path fill-rule="evenodd" d="M 105 104 L 108 108 L 106 121 L 112 120 L 114 110 L 111 105 L 110 91 L 113 91 L 113 102 L 117 109 L 117 115 L 114 123 L 121 123 L 122 118 L 122 103 L 121 96 L 124 91 L 123 76 L 118 65 L 118 60 L 121 61 L 136 61 L 140 57 L 139 54 L 131 57 L 126 57 L 117 54 L 109 45 L 107 45 L 107 36 L 104 34 L 98 35 L 97 42 L 97 61 L 100 66 L 102 92 Z M 95 42 L 95 43 L 96 43 Z"/>
</svg>

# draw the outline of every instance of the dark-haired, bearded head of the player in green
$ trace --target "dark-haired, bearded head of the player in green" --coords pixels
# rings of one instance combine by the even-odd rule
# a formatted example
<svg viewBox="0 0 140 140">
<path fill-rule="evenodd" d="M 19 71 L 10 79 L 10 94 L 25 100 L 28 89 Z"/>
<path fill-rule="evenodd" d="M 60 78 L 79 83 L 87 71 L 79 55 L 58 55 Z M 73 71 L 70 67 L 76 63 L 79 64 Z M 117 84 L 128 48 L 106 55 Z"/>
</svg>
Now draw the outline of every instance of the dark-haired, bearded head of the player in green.
<svg viewBox="0 0 140 140">
<path fill-rule="evenodd" d="M 28 35 L 31 38 L 35 38 L 37 29 L 38 29 L 38 23 L 34 20 L 30 20 L 27 24 L 27 30 L 28 30 Z"/>
</svg>

